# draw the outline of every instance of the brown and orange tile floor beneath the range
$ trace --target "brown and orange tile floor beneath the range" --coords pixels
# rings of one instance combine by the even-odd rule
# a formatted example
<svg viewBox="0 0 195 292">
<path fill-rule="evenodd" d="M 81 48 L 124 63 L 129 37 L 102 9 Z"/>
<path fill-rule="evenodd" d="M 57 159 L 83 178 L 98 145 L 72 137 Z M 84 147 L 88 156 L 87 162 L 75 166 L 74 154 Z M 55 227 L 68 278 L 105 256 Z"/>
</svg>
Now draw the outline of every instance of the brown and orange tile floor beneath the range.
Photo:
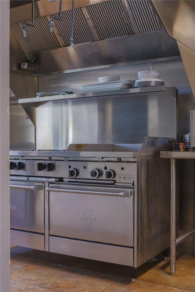
<svg viewBox="0 0 195 292">
<path fill-rule="evenodd" d="M 175 277 L 169 259 L 157 258 L 140 266 L 131 283 L 127 266 L 11 245 L 11 292 L 195 292 L 192 255 L 177 255 Z"/>
</svg>

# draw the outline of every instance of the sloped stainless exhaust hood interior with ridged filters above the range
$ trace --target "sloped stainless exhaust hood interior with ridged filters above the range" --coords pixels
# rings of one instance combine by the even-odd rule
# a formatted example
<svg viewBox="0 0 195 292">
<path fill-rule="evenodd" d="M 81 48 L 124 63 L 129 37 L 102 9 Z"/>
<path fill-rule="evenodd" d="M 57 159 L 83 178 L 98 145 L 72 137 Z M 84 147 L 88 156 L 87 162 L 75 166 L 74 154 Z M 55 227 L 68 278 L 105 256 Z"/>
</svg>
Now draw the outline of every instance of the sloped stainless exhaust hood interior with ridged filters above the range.
<svg viewBox="0 0 195 292">
<path fill-rule="evenodd" d="M 179 56 L 176 41 L 165 35 L 146 0 L 75 0 L 74 46 L 70 47 L 72 1 L 62 1 L 62 19 L 55 21 L 53 33 L 49 16 L 58 16 L 59 1 L 34 3 L 10 9 L 10 71 L 43 76 L 80 68 L 121 64 Z M 20 63 L 37 65 L 22 71 Z"/>
</svg>

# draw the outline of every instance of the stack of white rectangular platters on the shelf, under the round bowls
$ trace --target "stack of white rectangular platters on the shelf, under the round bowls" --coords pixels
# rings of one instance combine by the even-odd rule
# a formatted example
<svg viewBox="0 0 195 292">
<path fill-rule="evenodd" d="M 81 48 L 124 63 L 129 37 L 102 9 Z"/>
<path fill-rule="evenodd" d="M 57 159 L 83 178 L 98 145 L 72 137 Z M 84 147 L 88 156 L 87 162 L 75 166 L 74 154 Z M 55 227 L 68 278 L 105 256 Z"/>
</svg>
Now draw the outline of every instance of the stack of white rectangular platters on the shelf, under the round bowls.
<svg viewBox="0 0 195 292">
<path fill-rule="evenodd" d="M 135 82 L 135 80 L 126 79 L 126 80 L 117 80 L 117 81 L 111 81 L 111 82 L 106 82 L 106 83 L 82 85 L 80 87 L 80 92 L 97 92 L 97 91 L 128 89 L 128 88 L 132 88 L 133 82 Z"/>
</svg>

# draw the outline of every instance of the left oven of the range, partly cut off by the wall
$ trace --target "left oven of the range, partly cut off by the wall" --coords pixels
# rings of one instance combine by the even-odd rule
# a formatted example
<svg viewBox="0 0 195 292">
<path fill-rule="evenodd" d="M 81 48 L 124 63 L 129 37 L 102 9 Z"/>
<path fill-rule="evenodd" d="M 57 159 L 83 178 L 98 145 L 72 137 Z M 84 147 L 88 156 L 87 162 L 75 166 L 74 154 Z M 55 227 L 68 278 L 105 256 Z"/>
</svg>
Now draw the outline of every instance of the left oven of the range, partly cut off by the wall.
<svg viewBox="0 0 195 292">
<path fill-rule="evenodd" d="M 10 181 L 11 242 L 44 250 L 44 183 Z"/>
</svg>

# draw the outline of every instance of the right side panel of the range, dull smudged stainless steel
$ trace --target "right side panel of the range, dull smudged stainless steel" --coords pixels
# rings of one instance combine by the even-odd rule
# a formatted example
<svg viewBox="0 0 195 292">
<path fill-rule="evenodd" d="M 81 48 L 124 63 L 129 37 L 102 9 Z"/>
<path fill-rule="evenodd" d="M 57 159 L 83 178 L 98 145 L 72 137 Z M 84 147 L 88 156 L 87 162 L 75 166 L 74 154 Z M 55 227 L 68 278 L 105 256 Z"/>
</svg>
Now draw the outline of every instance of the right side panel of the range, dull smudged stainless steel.
<svg viewBox="0 0 195 292">
<path fill-rule="evenodd" d="M 170 162 L 160 157 L 141 157 L 139 168 L 140 188 L 135 189 L 135 267 L 170 246 Z"/>
</svg>

